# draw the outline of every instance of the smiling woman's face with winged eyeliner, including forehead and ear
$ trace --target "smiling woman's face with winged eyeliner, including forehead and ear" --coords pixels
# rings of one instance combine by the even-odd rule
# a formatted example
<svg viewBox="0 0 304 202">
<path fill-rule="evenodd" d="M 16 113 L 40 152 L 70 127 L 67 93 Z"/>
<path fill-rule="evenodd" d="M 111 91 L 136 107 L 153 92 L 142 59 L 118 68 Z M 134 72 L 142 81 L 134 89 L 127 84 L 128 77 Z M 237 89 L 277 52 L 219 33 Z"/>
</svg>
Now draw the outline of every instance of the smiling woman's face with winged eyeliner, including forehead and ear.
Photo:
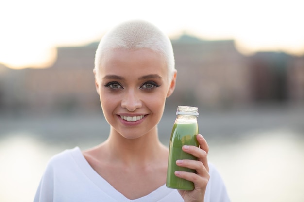
<svg viewBox="0 0 304 202">
<path fill-rule="evenodd" d="M 114 131 L 135 139 L 156 129 L 176 78 L 168 80 L 160 54 L 149 49 L 109 51 L 98 74 L 101 107 Z"/>
</svg>

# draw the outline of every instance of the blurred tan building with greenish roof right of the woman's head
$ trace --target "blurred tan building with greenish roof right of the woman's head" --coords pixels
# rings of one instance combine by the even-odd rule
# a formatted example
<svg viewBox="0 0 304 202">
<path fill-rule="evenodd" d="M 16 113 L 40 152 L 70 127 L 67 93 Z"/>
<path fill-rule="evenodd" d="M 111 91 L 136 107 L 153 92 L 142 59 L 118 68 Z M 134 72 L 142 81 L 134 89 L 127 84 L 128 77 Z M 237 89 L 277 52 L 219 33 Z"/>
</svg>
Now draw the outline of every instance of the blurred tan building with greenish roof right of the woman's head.
<svg viewBox="0 0 304 202">
<path fill-rule="evenodd" d="M 233 40 L 203 41 L 183 35 L 172 40 L 177 86 L 173 97 L 186 105 L 229 107 L 251 100 L 248 58 Z"/>
</svg>

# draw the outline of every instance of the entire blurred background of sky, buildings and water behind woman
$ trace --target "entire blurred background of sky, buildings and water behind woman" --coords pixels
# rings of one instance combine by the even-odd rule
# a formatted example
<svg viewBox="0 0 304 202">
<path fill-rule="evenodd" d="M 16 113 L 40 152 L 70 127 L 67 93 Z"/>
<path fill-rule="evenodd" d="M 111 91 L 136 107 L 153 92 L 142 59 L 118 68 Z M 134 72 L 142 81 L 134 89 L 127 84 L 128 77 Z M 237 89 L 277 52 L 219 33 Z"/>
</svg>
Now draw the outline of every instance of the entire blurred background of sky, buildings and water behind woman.
<svg viewBox="0 0 304 202">
<path fill-rule="evenodd" d="M 0 201 L 31 202 L 51 156 L 107 138 L 94 86 L 105 31 L 144 19 L 165 31 L 178 71 L 159 124 L 178 105 L 232 202 L 304 200 L 304 13 L 297 0 L 0 2 Z"/>
</svg>

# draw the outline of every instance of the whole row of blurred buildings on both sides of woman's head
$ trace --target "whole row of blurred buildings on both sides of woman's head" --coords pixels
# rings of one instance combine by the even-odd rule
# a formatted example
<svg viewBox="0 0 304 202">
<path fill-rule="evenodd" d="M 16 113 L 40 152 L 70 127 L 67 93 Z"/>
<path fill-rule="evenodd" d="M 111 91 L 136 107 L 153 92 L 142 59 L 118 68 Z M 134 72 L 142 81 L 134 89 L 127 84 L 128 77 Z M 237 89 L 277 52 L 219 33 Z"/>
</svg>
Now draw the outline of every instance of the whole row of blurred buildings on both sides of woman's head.
<svg viewBox="0 0 304 202">
<path fill-rule="evenodd" d="M 304 57 L 276 52 L 244 56 L 233 40 L 204 41 L 188 35 L 172 40 L 172 45 L 178 74 L 168 107 L 304 103 Z M 58 47 L 57 61 L 46 69 L 0 65 L 0 111 L 100 112 L 92 72 L 97 46 Z"/>
</svg>

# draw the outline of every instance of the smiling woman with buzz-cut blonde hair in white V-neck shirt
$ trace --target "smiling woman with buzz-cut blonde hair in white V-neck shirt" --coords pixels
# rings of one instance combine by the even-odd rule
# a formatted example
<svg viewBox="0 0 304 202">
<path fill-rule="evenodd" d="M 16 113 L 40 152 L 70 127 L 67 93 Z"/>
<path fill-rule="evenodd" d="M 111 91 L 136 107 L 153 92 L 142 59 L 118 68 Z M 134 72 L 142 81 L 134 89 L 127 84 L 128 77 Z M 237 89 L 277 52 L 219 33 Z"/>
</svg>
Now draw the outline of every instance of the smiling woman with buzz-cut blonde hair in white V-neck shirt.
<svg viewBox="0 0 304 202">
<path fill-rule="evenodd" d="M 166 98 L 175 88 L 176 70 L 169 38 L 152 24 L 128 21 L 109 31 L 95 56 L 95 85 L 110 124 L 108 139 L 80 151 L 54 156 L 34 202 L 228 202 L 220 175 L 208 164 L 208 145 L 183 150 L 198 160 L 178 160 L 196 173 L 175 174 L 194 190 L 165 186 L 169 149 L 158 139 Z"/>
</svg>

